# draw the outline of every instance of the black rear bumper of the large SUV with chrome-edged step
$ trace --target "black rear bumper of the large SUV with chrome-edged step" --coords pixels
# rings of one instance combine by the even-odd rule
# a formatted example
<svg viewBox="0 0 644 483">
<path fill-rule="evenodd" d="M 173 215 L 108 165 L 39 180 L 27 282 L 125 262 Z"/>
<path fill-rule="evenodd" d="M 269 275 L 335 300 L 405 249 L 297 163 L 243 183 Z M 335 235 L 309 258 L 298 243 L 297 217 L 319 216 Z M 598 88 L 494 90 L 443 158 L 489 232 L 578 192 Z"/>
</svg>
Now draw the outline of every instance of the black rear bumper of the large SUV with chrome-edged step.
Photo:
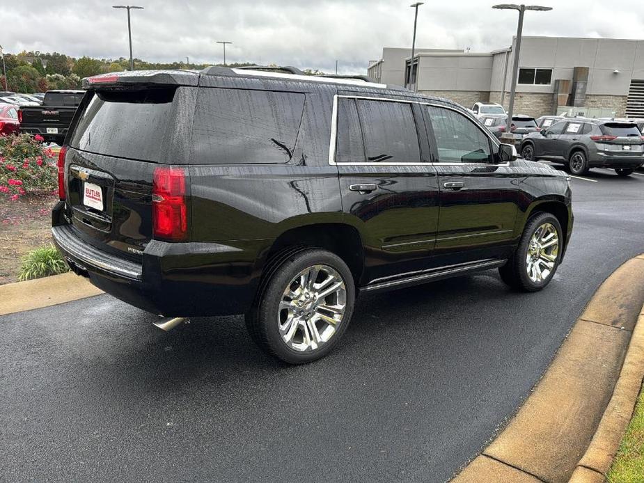
<svg viewBox="0 0 644 483">
<path fill-rule="evenodd" d="M 166 317 L 244 313 L 253 303 L 260 275 L 253 250 L 151 240 L 139 264 L 87 244 L 72 225 L 56 225 L 57 208 L 58 251 L 72 271 L 117 299 Z"/>
</svg>

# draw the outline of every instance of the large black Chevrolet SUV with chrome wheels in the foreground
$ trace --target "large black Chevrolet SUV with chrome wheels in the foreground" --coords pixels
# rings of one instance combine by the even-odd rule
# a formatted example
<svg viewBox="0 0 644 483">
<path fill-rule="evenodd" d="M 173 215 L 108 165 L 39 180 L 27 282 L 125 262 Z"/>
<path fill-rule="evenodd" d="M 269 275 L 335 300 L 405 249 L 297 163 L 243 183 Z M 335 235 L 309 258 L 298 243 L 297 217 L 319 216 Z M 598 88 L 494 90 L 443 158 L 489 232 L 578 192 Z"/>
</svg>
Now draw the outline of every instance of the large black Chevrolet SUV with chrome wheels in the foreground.
<svg viewBox="0 0 644 483">
<path fill-rule="evenodd" d="M 54 240 L 143 310 L 243 313 L 262 348 L 304 363 L 337 344 L 361 292 L 495 267 L 535 291 L 563 260 L 567 177 L 448 100 L 228 68 L 85 85 Z"/>
</svg>

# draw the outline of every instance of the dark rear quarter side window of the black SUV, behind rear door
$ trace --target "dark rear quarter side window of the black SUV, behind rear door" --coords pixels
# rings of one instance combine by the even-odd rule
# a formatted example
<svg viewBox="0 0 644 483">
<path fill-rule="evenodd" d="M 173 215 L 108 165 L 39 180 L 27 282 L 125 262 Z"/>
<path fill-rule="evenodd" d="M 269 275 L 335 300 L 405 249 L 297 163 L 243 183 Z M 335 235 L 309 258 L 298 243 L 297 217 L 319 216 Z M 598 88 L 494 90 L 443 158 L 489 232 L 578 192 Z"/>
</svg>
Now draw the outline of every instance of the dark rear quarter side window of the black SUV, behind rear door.
<svg viewBox="0 0 644 483">
<path fill-rule="evenodd" d="M 201 88 L 194 113 L 194 161 L 287 163 L 304 111 L 304 94 Z"/>
</svg>

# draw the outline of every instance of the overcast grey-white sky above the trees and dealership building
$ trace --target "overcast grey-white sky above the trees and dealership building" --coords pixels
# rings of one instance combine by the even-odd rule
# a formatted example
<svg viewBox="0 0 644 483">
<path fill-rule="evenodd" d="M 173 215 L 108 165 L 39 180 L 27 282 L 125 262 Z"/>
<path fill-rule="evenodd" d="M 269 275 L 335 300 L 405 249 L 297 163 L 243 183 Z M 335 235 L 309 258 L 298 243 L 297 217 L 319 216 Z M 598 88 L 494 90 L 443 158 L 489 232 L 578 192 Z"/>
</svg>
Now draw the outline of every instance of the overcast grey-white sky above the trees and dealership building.
<svg viewBox="0 0 644 483">
<path fill-rule="evenodd" d="M 0 0 L 5 52 L 40 50 L 74 57 L 129 56 L 119 0 Z M 364 73 L 382 47 L 410 47 L 414 9 L 407 1 L 136 0 L 134 56 L 147 61 L 226 60 Z M 417 47 L 486 52 L 508 47 L 517 26 L 498 1 L 427 0 L 418 10 Z M 550 12 L 528 12 L 524 35 L 644 39 L 641 0 L 542 0 Z"/>
</svg>

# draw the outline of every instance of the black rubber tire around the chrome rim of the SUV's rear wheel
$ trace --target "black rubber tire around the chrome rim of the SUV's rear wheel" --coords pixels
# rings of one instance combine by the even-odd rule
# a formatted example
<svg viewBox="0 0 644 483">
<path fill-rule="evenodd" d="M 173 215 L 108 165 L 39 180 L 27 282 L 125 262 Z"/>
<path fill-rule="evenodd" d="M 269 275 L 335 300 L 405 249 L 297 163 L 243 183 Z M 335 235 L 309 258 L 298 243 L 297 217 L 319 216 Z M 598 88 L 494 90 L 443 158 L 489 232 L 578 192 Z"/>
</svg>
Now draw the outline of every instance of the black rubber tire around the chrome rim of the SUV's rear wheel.
<svg viewBox="0 0 644 483">
<path fill-rule="evenodd" d="M 335 269 L 344 279 L 347 290 L 347 304 L 342 322 L 336 329 L 336 333 L 329 342 L 326 342 L 320 349 L 312 352 L 302 353 L 288 347 L 282 340 L 277 324 L 278 305 L 281 301 L 284 289 L 300 271 L 315 264 L 328 265 Z M 347 264 L 337 255 L 322 249 L 311 249 L 301 251 L 288 258 L 276 270 L 268 281 L 257 308 L 257 323 L 265 335 L 267 349 L 269 352 L 280 358 L 282 361 L 291 364 L 302 364 L 315 361 L 327 355 L 336 346 L 352 317 L 355 303 L 355 285 L 353 276 Z"/>
</svg>

